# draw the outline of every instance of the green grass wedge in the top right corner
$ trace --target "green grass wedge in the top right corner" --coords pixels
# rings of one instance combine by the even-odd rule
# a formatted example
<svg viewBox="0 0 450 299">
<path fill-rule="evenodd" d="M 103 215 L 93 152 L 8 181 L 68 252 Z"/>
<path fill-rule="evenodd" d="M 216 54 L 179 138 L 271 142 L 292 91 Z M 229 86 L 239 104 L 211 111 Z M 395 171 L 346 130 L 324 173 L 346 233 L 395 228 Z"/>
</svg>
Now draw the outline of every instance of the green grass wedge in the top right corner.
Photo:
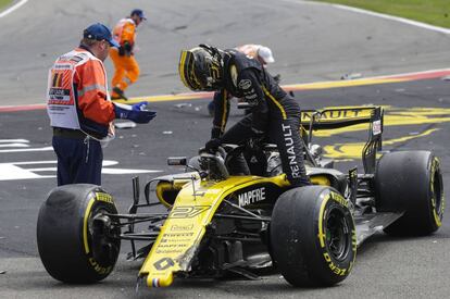
<svg viewBox="0 0 450 299">
<path fill-rule="evenodd" d="M 316 0 L 450 28 L 450 0 Z"/>
</svg>

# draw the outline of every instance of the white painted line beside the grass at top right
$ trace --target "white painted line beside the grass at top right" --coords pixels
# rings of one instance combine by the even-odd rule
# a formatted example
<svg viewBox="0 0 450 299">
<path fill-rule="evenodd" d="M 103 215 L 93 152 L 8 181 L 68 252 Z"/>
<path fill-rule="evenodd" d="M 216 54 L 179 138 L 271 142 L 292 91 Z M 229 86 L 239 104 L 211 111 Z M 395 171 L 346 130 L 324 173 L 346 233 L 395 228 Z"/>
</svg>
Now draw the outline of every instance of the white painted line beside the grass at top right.
<svg viewBox="0 0 450 299">
<path fill-rule="evenodd" d="M 428 30 L 450 35 L 450 29 L 449 28 L 438 27 L 438 26 L 429 25 L 429 24 L 426 24 L 426 23 L 417 22 L 417 21 L 412 21 L 412 20 L 409 20 L 409 18 L 400 17 L 400 16 L 393 16 L 393 15 L 389 15 L 389 14 L 372 12 L 372 11 L 367 11 L 367 10 L 363 10 L 363 9 L 357 9 L 357 8 L 351 8 L 351 7 L 341 5 L 341 4 L 322 3 L 322 2 L 318 3 L 318 2 L 311 2 L 311 1 L 303 1 L 303 0 L 282 0 L 282 1 L 290 2 L 290 3 L 298 3 L 298 4 L 328 5 L 328 7 L 334 7 L 334 8 L 337 8 L 337 9 L 346 10 L 346 11 L 351 11 L 351 12 L 355 12 L 355 13 L 361 13 L 361 14 L 372 15 L 372 16 L 376 16 L 376 17 L 382 17 L 382 18 L 386 18 L 386 20 L 396 21 L 396 22 L 400 22 L 400 23 L 403 23 L 403 24 L 421 27 L 421 28 L 424 28 L 424 29 L 428 29 Z"/>
</svg>

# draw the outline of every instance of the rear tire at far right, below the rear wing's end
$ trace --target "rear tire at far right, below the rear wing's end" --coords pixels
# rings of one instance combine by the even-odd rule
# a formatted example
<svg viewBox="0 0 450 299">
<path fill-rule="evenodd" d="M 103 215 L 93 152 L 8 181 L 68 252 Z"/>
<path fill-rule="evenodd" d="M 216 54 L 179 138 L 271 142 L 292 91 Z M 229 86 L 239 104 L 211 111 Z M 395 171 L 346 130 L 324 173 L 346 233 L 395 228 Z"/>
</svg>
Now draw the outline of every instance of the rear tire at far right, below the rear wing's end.
<svg viewBox="0 0 450 299">
<path fill-rule="evenodd" d="M 439 160 L 430 151 L 384 154 L 375 173 L 375 199 L 378 212 L 404 212 L 385 233 L 411 236 L 436 232 L 445 208 Z"/>
</svg>

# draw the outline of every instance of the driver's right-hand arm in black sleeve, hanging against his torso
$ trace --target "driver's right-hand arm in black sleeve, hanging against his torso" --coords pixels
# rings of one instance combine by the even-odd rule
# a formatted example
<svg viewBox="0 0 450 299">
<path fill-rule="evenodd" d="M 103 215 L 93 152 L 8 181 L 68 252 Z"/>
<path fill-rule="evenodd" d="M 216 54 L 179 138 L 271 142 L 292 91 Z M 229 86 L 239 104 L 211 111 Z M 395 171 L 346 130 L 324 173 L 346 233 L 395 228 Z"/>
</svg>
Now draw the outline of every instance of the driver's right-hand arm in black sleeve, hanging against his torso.
<svg viewBox="0 0 450 299">
<path fill-rule="evenodd" d="M 238 88 L 246 102 L 249 103 L 252 113 L 251 128 L 257 134 L 265 132 L 267 124 L 268 107 L 262 90 L 262 83 L 258 76 L 258 71 L 246 68 L 239 74 Z"/>
</svg>

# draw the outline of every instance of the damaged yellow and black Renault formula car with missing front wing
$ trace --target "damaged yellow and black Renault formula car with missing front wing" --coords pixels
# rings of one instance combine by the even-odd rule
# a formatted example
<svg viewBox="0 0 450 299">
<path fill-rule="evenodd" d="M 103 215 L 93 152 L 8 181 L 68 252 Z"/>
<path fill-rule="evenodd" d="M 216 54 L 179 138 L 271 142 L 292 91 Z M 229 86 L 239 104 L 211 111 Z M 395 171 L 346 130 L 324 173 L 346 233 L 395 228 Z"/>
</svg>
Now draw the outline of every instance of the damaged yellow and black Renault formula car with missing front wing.
<svg viewBox="0 0 450 299">
<path fill-rule="evenodd" d="M 186 171 L 138 178 L 128 213 L 93 185 L 54 188 L 43 202 L 37 242 L 48 273 L 65 283 L 105 278 L 130 241 L 128 259 L 145 258 L 138 281 L 167 287 L 174 277 L 243 275 L 274 267 L 292 286 L 330 286 L 351 272 L 371 235 L 427 235 L 445 209 L 439 160 L 430 151 L 382 148 L 380 107 L 303 111 L 307 171 L 313 185 L 292 188 L 274 145 L 224 145 L 215 153 L 170 158 Z M 342 173 L 312 144 L 315 130 L 368 124 L 364 173 Z M 251 175 L 230 172 L 246 157 Z M 154 200 L 154 196 L 158 201 Z"/>
</svg>

